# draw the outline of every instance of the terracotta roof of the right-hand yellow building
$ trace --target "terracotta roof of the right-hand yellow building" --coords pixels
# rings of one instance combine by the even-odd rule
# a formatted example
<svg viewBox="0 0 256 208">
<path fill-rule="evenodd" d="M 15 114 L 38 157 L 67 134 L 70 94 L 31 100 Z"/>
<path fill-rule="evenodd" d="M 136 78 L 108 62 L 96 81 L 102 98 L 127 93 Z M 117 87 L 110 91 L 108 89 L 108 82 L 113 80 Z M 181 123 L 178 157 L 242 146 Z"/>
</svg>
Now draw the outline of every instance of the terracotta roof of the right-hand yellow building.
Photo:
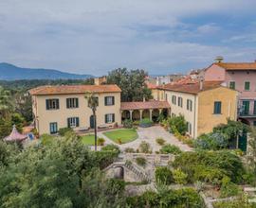
<svg viewBox="0 0 256 208">
<path fill-rule="evenodd" d="M 221 81 L 204 81 L 202 90 L 200 90 L 199 82 L 193 84 L 166 84 L 159 89 L 196 95 L 202 91 L 221 87 L 221 83 Z"/>
</svg>

